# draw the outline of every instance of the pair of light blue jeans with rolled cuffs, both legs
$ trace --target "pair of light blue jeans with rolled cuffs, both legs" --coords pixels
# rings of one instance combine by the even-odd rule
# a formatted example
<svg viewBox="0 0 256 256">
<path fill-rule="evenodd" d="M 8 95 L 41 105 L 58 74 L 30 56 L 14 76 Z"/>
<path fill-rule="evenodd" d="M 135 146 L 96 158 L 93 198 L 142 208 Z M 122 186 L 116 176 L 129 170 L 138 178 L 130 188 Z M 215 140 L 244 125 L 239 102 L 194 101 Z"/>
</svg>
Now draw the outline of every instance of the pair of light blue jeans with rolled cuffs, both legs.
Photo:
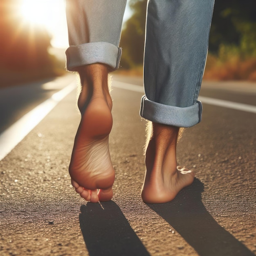
<svg viewBox="0 0 256 256">
<path fill-rule="evenodd" d="M 92 63 L 119 66 L 126 0 L 66 0 L 67 70 Z M 198 101 L 214 0 L 148 0 L 140 115 L 177 127 L 198 124 Z M 136 42 L 135 42 L 136 46 Z"/>
</svg>

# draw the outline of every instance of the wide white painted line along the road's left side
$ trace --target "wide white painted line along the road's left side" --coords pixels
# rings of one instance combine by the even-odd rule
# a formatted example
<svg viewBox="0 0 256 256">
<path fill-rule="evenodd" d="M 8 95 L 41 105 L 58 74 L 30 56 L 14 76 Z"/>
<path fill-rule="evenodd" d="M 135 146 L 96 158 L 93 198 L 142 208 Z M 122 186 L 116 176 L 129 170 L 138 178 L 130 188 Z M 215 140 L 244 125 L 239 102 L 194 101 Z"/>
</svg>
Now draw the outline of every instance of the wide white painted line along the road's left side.
<svg viewBox="0 0 256 256">
<path fill-rule="evenodd" d="M 76 82 L 54 93 L 0 134 L 0 161 L 33 129 L 67 94 L 76 88 Z"/>
</svg>

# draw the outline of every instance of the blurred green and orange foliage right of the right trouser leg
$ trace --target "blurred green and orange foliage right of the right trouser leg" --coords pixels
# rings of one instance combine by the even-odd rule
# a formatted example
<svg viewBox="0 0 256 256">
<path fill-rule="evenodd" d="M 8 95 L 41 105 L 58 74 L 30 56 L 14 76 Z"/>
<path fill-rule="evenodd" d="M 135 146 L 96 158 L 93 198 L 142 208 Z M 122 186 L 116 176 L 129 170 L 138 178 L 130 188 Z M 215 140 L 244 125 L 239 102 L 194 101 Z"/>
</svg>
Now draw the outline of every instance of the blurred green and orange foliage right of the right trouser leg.
<svg viewBox="0 0 256 256">
<path fill-rule="evenodd" d="M 216 0 L 204 78 L 256 80 L 255 0 Z"/>
</svg>

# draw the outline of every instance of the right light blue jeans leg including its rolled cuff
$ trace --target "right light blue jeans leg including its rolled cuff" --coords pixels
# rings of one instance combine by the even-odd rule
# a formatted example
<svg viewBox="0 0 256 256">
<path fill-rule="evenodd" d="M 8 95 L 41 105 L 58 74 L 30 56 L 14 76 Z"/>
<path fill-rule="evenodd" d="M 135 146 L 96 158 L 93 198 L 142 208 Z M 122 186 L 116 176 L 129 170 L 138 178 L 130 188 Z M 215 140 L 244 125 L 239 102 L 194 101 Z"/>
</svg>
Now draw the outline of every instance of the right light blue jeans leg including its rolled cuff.
<svg viewBox="0 0 256 256">
<path fill-rule="evenodd" d="M 197 99 L 213 4 L 214 0 L 148 1 L 142 117 L 182 127 L 200 122 L 202 104 Z"/>
</svg>

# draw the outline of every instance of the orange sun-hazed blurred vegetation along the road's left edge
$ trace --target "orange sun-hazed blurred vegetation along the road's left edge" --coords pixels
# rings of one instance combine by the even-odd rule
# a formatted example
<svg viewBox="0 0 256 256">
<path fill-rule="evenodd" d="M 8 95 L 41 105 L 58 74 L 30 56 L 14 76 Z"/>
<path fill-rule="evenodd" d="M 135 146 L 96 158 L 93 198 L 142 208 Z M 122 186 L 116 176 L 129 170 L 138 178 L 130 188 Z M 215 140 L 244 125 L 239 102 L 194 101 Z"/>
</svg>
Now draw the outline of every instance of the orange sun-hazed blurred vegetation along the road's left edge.
<svg viewBox="0 0 256 256">
<path fill-rule="evenodd" d="M 0 1 L 0 87 L 62 75 L 65 64 L 49 54 L 49 33 L 18 16 L 18 0 Z"/>
</svg>

